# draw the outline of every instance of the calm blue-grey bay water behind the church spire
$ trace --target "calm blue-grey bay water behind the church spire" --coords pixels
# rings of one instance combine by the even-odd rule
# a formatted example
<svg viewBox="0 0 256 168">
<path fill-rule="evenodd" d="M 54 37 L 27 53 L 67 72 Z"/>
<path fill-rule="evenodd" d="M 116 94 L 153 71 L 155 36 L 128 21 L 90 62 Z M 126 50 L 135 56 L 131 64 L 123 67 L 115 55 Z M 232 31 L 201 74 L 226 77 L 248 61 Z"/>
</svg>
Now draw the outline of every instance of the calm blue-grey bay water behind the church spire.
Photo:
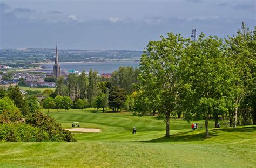
<svg viewBox="0 0 256 168">
<path fill-rule="evenodd" d="M 43 69 L 36 70 L 37 72 L 50 72 L 52 71 L 52 64 L 41 64 Z M 62 70 L 72 70 L 89 72 L 90 69 L 98 71 L 98 73 L 112 73 L 117 70 L 120 66 L 132 66 L 139 67 L 139 62 L 60 62 L 60 69 Z"/>
</svg>

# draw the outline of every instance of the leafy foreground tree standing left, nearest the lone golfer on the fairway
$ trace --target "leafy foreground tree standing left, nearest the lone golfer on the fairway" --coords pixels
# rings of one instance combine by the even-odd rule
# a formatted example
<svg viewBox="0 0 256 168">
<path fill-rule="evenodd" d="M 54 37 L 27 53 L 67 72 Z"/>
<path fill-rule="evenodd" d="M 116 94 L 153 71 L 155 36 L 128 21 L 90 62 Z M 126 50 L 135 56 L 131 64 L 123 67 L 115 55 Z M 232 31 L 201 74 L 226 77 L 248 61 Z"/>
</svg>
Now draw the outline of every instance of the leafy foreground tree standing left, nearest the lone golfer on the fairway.
<svg viewBox="0 0 256 168">
<path fill-rule="evenodd" d="M 166 137 L 170 136 L 170 115 L 179 101 L 179 62 L 184 56 L 186 39 L 168 33 L 159 41 L 150 41 L 140 59 L 139 89 L 151 102 L 158 100 L 158 114 L 166 122 Z M 144 96 L 145 97 L 145 96 Z M 145 111 L 141 111 L 145 113 Z"/>
</svg>

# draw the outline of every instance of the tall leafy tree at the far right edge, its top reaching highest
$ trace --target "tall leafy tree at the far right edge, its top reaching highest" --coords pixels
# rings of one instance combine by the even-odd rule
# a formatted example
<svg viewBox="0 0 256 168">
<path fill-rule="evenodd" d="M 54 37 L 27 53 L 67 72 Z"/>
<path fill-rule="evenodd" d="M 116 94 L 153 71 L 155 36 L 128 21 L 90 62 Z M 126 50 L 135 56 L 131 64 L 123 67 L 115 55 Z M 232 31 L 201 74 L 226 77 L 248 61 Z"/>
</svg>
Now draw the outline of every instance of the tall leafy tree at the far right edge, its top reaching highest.
<svg viewBox="0 0 256 168">
<path fill-rule="evenodd" d="M 251 86 L 255 83 L 255 32 L 242 23 L 241 30 L 233 37 L 226 39 L 228 57 L 234 71 L 234 111 L 230 111 L 230 120 L 233 127 L 238 124 L 238 112 L 245 97 L 253 95 Z M 247 99 L 250 101 L 250 99 Z"/>
</svg>

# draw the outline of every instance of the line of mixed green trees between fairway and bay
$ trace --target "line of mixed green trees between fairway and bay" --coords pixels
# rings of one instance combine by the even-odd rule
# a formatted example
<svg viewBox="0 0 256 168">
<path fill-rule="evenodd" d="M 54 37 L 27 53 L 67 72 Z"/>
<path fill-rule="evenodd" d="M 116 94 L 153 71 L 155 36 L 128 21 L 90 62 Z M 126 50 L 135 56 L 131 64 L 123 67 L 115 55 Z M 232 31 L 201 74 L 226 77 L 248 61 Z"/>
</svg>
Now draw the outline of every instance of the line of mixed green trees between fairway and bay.
<svg viewBox="0 0 256 168">
<path fill-rule="evenodd" d="M 92 69 L 89 75 L 85 71 L 80 75 L 69 74 L 66 80 L 63 77 L 57 80 L 55 92 L 43 100 L 44 108 L 122 110 L 126 96 L 135 90 L 138 74 L 139 69 L 133 67 L 120 67 L 112 73 L 112 78 L 101 78 Z"/>
</svg>

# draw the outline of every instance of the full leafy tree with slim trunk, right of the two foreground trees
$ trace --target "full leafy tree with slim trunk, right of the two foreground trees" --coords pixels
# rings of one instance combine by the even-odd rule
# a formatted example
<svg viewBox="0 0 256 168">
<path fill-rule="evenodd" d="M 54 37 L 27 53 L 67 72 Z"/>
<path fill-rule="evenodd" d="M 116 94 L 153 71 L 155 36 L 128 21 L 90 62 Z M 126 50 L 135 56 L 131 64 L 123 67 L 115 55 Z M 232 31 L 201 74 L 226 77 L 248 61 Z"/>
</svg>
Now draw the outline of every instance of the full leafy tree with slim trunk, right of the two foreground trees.
<svg viewBox="0 0 256 168">
<path fill-rule="evenodd" d="M 209 137 L 208 117 L 225 114 L 232 91 L 233 69 L 227 64 L 223 41 L 217 37 L 200 34 L 198 41 L 191 41 L 181 60 L 181 74 L 186 95 L 187 116 L 190 113 L 205 118 L 205 135 Z"/>
</svg>

